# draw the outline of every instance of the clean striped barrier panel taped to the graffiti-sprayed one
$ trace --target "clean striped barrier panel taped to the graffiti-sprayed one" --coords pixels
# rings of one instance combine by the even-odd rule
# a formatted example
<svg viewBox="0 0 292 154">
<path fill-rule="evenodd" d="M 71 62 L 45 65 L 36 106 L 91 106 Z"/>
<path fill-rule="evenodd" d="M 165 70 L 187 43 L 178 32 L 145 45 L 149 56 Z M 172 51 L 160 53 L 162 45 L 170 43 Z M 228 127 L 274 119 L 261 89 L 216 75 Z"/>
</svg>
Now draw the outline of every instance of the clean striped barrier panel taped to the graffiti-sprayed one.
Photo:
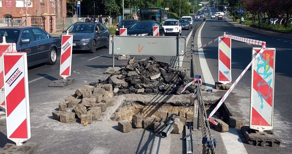
<svg viewBox="0 0 292 154">
<path fill-rule="evenodd" d="M 231 76 L 231 38 L 218 37 L 218 82 L 227 84 Z"/>
</svg>

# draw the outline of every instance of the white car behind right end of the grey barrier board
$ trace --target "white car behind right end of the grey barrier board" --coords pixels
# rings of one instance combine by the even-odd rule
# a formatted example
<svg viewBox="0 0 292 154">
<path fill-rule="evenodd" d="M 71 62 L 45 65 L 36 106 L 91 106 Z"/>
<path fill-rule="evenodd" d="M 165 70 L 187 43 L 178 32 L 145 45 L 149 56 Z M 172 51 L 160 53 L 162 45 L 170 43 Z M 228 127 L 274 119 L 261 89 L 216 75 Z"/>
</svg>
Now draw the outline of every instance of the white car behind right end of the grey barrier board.
<svg viewBox="0 0 292 154">
<path fill-rule="evenodd" d="M 181 25 L 179 20 L 165 20 L 162 27 L 165 30 L 165 35 L 180 35 Z"/>
</svg>

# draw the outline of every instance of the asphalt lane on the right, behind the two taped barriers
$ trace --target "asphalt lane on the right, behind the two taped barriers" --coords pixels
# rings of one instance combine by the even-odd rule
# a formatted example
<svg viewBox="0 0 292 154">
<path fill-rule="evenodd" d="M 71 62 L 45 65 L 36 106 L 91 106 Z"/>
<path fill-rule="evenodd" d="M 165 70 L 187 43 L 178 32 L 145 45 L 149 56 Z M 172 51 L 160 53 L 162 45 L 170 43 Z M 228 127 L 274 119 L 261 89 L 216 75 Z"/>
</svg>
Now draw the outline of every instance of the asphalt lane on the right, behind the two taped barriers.
<svg viewBox="0 0 292 154">
<path fill-rule="evenodd" d="M 289 102 L 292 99 L 290 86 L 292 71 L 291 44 L 292 39 L 287 39 L 278 35 L 258 34 L 252 31 L 247 31 L 238 27 L 234 27 L 225 21 L 216 19 L 205 22 L 201 32 L 202 45 L 212 41 L 214 38 L 222 35 L 223 32 L 235 36 L 252 38 L 266 42 L 267 48 L 276 48 L 276 73 L 275 73 L 275 99 L 274 99 L 274 133 L 281 139 L 280 147 L 259 147 L 246 144 L 242 139 L 243 145 L 247 153 L 290 153 L 291 148 L 291 107 Z M 244 68 L 251 62 L 252 47 L 251 44 L 246 44 L 238 41 L 232 41 L 232 81 L 234 82 Z M 218 42 L 215 42 L 203 49 L 207 66 L 212 73 L 215 82 L 218 81 Z M 197 61 L 199 61 L 197 59 Z M 199 63 L 198 63 L 199 65 Z M 199 67 L 200 69 L 200 67 Z M 206 68 L 202 68 L 206 69 Z M 251 93 L 251 69 L 249 69 L 240 82 L 237 84 L 231 95 L 226 99 L 225 104 L 230 110 L 233 110 L 237 116 L 243 117 L 249 122 L 249 103 Z M 200 72 L 200 70 L 199 70 Z M 208 76 L 203 76 L 208 78 Z M 237 131 L 240 134 L 240 131 Z M 224 134 L 224 133 L 222 133 Z M 222 137 L 222 136 L 221 136 Z M 222 137 L 223 138 L 223 137 Z M 225 142 L 225 141 L 224 141 Z M 228 142 L 226 142 L 228 143 Z M 228 149 L 238 150 L 233 144 L 225 144 L 226 151 Z M 220 147 L 217 147 L 220 148 Z M 232 153 L 232 152 L 231 152 Z"/>
</svg>

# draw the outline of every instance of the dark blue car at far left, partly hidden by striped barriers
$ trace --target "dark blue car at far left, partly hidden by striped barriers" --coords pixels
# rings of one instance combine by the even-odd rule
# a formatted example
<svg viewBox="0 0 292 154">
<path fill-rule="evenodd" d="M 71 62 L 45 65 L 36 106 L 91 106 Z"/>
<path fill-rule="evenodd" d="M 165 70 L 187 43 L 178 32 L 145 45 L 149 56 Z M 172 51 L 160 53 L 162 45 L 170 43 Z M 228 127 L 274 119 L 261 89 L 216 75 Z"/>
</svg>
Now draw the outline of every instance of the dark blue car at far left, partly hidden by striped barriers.
<svg viewBox="0 0 292 154">
<path fill-rule="evenodd" d="M 54 65 L 57 61 L 57 52 L 61 49 L 60 38 L 52 37 L 39 27 L 1 27 L 1 43 L 3 36 L 7 43 L 16 43 L 18 52 L 27 53 L 28 67 L 42 63 Z"/>
</svg>

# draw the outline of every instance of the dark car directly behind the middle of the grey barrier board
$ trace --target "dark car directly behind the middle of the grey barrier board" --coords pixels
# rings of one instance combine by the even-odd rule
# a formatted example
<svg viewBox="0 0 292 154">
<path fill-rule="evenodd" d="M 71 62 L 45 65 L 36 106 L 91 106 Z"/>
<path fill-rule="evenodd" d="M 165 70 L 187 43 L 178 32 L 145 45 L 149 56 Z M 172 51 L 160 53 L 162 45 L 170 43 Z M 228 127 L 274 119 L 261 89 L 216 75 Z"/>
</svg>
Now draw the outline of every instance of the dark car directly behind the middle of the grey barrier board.
<svg viewBox="0 0 292 154">
<path fill-rule="evenodd" d="M 159 35 L 164 36 L 164 28 L 156 21 L 141 21 L 128 29 L 128 35 L 153 36 L 153 26 L 159 26 Z"/>
</svg>

